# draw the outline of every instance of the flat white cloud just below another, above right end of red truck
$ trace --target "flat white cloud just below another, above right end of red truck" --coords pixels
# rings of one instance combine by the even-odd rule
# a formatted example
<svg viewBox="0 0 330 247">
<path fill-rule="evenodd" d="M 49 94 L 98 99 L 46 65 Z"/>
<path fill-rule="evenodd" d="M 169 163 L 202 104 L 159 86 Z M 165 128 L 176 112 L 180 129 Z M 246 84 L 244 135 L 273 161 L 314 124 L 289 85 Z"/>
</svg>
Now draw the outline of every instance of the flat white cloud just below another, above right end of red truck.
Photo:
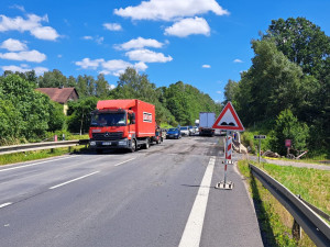
<svg viewBox="0 0 330 247">
<path fill-rule="evenodd" d="M 163 53 L 155 53 L 150 49 L 134 49 L 125 53 L 130 60 L 144 63 L 166 63 L 173 60 L 170 56 L 165 57 Z"/>
</svg>

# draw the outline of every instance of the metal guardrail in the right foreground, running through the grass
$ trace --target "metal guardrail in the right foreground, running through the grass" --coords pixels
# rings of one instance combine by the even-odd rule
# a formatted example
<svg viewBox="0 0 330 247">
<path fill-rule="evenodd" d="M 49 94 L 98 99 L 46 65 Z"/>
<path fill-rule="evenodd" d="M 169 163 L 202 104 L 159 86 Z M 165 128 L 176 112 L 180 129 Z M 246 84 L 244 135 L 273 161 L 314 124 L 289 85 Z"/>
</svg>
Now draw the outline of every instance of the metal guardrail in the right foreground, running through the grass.
<svg viewBox="0 0 330 247">
<path fill-rule="evenodd" d="M 263 170 L 249 164 L 254 177 L 286 207 L 317 246 L 330 246 L 330 226 L 304 201 Z"/>
</svg>

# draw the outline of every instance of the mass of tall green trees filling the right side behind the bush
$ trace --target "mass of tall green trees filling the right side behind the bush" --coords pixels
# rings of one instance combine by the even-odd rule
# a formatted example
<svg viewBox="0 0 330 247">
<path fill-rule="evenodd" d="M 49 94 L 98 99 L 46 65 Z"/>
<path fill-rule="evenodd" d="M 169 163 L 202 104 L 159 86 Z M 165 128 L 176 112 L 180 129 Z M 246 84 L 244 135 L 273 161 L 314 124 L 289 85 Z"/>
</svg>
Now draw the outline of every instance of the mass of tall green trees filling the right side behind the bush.
<svg viewBox="0 0 330 247">
<path fill-rule="evenodd" d="M 260 41 L 252 41 L 252 48 L 251 68 L 238 86 L 228 82 L 226 100 L 233 102 L 245 127 L 275 124 L 289 109 L 309 126 L 311 153 L 330 157 L 330 37 L 304 18 L 279 19 Z"/>
</svg>

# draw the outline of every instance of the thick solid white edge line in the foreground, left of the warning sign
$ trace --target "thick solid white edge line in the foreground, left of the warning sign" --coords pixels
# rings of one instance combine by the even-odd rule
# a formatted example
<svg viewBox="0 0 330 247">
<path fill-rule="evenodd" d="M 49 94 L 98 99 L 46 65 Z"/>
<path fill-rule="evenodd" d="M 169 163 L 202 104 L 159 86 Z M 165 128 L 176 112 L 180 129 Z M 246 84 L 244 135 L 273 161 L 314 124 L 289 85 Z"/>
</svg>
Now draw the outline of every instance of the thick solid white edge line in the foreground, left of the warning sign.
<svg viewBox="0 0 330 247">
<path fill-rule="evenodd" d="M 216 157 L 212 156 L 201 180 L 189 218 L 187 221 L 184 234 L 182 236 L 179 247 L 199 246 L 215 162 Z"/>
</svg>

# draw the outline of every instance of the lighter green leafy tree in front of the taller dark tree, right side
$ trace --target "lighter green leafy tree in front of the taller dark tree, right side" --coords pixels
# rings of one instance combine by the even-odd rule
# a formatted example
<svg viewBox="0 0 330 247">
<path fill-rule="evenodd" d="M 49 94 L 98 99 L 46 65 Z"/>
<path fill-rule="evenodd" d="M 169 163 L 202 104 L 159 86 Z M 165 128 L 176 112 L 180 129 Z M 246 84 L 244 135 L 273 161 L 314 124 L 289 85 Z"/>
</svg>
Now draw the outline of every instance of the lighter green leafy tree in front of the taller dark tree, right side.
<svg viewBox="0 0 330 247">
<path fill-rule="evenodd" d="M 272 40 L 253 41 L 252 47 L 253 65 L 242 75 L 237 100 L 243 122 L 275 119 L 285 109 L 297 113 L 304 100 L 302 82 L 312 77 L 304 77 L 301 68 L 278 52 Z"/>
</svg>

